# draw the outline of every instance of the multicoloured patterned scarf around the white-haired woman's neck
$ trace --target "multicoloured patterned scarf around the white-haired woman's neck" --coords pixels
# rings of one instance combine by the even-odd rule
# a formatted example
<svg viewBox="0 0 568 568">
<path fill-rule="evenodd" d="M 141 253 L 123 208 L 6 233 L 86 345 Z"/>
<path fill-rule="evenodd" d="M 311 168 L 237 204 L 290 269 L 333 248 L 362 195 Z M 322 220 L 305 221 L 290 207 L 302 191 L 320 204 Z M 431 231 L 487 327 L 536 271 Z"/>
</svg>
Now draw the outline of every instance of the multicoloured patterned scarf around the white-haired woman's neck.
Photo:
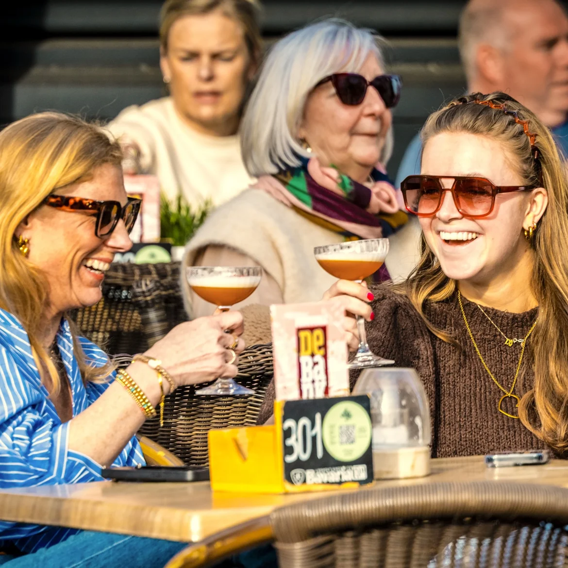
<svg viewBox="0 0 568 568">
<path fill-rule="evenodd" d="M 301 166 L 261 176 L 253 187 L 345 240 L 388 237 L 407 223 L 402 194 L 381 166 L 373 169 L 373 185 L 367 187 L 335 168 L 322 167 L 316 157 L 301 159 Z M 384 265 L 379 272 L 380 280 L 388 278 Z"/>
</svg>

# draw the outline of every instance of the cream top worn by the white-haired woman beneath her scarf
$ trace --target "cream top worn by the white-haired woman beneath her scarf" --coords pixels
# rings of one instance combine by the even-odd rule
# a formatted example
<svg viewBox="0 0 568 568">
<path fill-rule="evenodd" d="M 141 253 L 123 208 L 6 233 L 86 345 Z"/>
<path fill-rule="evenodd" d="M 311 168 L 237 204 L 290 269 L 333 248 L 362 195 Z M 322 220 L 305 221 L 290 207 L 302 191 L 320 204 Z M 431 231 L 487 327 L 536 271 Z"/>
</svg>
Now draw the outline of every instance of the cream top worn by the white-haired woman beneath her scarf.
<svg viewBox="0 0 568 568">
<path fill-rule="evenodd" d="M 386 265 L 393 278 L 406 277 L 414 266 L 419 232 L 417 223 L 411 222 L 391 237 L 394 254 L 389 253 Z M 342 241 L 338 233 L 312 223 L 264 191 L 248 189 L 213 211 L 187 243 L 182 270 L 186 308 L 193 316 L 185 268 L 194 265 L 208 247 L 232 250 L 248 257 L 252 265 L 262 266 L 263 278 L 273 281 L 281 292 L 281 301 L 288 304 L 321 299 L 337 279 L 320 267 L 314 247 Z M 254 295 L 245 300 L 255 302 L 263 303 Z"/>
</svg>

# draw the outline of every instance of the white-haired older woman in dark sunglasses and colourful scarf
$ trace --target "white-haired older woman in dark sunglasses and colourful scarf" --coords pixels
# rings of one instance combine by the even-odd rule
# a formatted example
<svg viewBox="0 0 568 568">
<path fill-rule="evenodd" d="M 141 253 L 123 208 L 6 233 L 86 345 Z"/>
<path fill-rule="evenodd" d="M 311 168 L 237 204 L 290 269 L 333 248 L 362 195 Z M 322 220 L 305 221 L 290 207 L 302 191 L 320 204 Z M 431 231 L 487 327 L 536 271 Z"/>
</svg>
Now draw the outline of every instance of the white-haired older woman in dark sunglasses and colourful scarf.
<svg viewBox="0 0 568 568">
<path fill-rule="evenodd" d="M 384 168 L 401 82 L 385 74 L 380 43 L 327 20 L 274 45 L 241 123 L 245 167 L 258 182 L 207 219 L 187 244 L 185 266 L 262 266 L 248 303 L 319 300 L 334 279 L 314 247 L 390 237 L 406 224 Z M 415 260 L 407 269 L 400 256 L 387 259 L 393 277 Z M 211 304 L 184 285 L 191 315 L 210 314 Z"/>
</svg>

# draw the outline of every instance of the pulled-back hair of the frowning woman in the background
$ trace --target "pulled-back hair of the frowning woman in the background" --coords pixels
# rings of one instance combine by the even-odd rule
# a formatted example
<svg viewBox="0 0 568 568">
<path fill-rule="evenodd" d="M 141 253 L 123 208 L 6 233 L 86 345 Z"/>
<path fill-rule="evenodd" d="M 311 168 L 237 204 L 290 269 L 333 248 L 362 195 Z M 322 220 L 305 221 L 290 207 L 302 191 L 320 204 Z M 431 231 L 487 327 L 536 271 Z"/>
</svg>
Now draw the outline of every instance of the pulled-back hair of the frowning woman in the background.
<svg viewBox="0 0 568 568">
<path fill-rule="evenodd" d="M 209 14 L 222 10 L 243 28 L 250 60 L 258 62 L 262 53 L 261 6 L 257 0 L 166 0 L 160 11 L 160 46 L 168 52 L 168 37 L 174 22 L 183 16 Z"/>
</svg>

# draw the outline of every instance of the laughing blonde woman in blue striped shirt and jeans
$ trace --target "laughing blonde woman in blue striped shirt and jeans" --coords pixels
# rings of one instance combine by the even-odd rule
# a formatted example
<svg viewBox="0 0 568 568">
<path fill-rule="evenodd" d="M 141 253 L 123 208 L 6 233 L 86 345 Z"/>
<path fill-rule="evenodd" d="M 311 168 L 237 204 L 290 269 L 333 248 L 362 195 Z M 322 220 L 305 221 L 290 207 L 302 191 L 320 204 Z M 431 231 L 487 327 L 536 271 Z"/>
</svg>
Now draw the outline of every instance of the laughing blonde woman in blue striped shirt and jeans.
<svg viewBox="0 0 568 568">
<path fill-rule="evenodd" d="M 133 362 L 116 374 L 66 318 L 101 299 L 114 254 L 132 245 L 139 203 L 127 199 L 121 160 L 105 132 L 62 114 L 28 116 L 0 133 L 2 488 L 101 481 L 102 466 L 144 463 L 134 435 L 160 401 L 156 371 Z M 194 320 L 148 350 L 170 374 L 165 394 L 235 375 L 230 348 L 244 347 L 241 324 L 238 312 Z M 0 556 L 14 568 L 147 568 L 183 544 L 0 521 L 0 548 L 17 556 Z"/>
</svg>

